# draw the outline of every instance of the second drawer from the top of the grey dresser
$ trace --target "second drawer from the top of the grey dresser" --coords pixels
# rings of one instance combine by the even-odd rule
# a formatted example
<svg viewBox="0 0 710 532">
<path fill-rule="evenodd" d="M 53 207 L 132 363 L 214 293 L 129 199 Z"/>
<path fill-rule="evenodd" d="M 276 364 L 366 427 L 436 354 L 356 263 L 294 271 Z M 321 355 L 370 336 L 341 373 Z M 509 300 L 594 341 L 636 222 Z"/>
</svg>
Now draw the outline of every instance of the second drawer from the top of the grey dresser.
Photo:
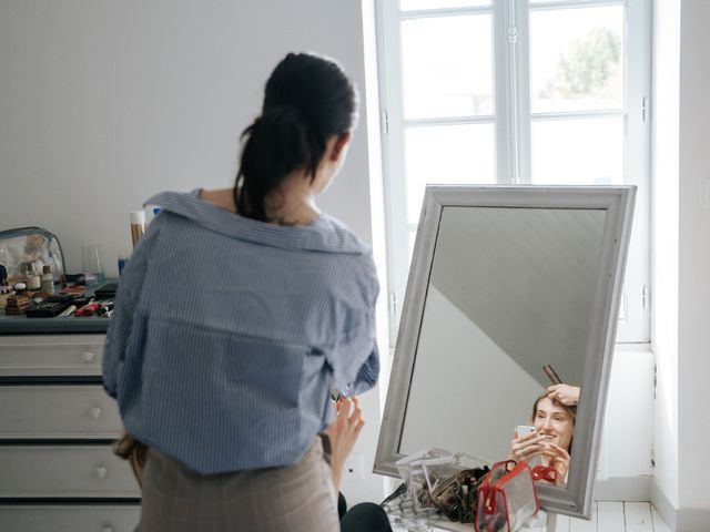
<svg viewBox="0 0 710 532">
<path fill-rule="evenodd" d="M 115 440 L 121 428 L 116 402 L 100 385 L 0 386 L 0 440 Z"/>
</svg>

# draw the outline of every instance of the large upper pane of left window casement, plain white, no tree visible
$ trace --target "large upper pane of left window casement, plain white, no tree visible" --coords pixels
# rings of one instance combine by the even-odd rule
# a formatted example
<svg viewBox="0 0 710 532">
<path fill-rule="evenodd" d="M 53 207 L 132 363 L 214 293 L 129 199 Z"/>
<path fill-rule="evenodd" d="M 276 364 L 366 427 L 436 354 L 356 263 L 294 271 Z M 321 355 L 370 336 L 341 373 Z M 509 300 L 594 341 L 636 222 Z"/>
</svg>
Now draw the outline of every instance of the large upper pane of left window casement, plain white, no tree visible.
<svg viewBox="0 0 710 532">
<path fill-rule="evenodd" d="M 490 16 L 402 22 L 406 119 L 493 114 Z"/>
</svg>

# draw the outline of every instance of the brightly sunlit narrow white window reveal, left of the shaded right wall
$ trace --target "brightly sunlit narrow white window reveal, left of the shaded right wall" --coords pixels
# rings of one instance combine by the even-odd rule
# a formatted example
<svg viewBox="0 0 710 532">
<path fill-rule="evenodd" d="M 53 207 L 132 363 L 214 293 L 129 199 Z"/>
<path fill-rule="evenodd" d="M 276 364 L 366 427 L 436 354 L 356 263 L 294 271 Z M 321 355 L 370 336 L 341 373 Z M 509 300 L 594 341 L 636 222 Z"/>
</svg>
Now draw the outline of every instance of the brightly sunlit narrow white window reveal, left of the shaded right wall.
<svg viewBox="0 0 710 532">
<path fill-rule="evenodd" d="M 656 355 L 653 475 L 678 508 L 678 150 L 680 4 L 653 4 L 651 349 Z M 668 519 L 668 512 L 666 512 Z"/>
</svg>

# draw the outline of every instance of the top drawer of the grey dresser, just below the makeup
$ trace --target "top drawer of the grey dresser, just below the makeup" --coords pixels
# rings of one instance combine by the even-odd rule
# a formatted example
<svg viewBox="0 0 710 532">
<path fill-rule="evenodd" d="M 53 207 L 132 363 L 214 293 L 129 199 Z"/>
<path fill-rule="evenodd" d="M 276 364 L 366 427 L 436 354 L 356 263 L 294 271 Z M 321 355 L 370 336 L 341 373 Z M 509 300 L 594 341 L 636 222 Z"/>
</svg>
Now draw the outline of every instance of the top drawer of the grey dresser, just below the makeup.
<svg viewBox="0 0 710 532">
<path fill-rule="evenodd" d="M 104 335 L 0 336 L 0 377 L 100 376 L 104 339 Z"/>
</svg>

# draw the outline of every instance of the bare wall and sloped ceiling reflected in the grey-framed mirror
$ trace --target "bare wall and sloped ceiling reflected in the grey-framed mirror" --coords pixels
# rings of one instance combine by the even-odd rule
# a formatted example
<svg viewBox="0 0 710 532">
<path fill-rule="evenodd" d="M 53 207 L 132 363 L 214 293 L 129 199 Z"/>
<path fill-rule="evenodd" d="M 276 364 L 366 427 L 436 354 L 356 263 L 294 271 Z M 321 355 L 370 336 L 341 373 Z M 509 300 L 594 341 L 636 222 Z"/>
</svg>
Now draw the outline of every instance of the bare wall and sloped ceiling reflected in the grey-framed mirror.
<svg viewBox="0 0 710 532">
<path fill-rule="evenodd" d="M 402 454 L 433 446 L 500 460 L 551 385 L 545 365 L 580 386 L 605 217 L 602 209 L 442 209 Z M 442 416 L 443 402 L 463 416 Z"/>
</svg>

